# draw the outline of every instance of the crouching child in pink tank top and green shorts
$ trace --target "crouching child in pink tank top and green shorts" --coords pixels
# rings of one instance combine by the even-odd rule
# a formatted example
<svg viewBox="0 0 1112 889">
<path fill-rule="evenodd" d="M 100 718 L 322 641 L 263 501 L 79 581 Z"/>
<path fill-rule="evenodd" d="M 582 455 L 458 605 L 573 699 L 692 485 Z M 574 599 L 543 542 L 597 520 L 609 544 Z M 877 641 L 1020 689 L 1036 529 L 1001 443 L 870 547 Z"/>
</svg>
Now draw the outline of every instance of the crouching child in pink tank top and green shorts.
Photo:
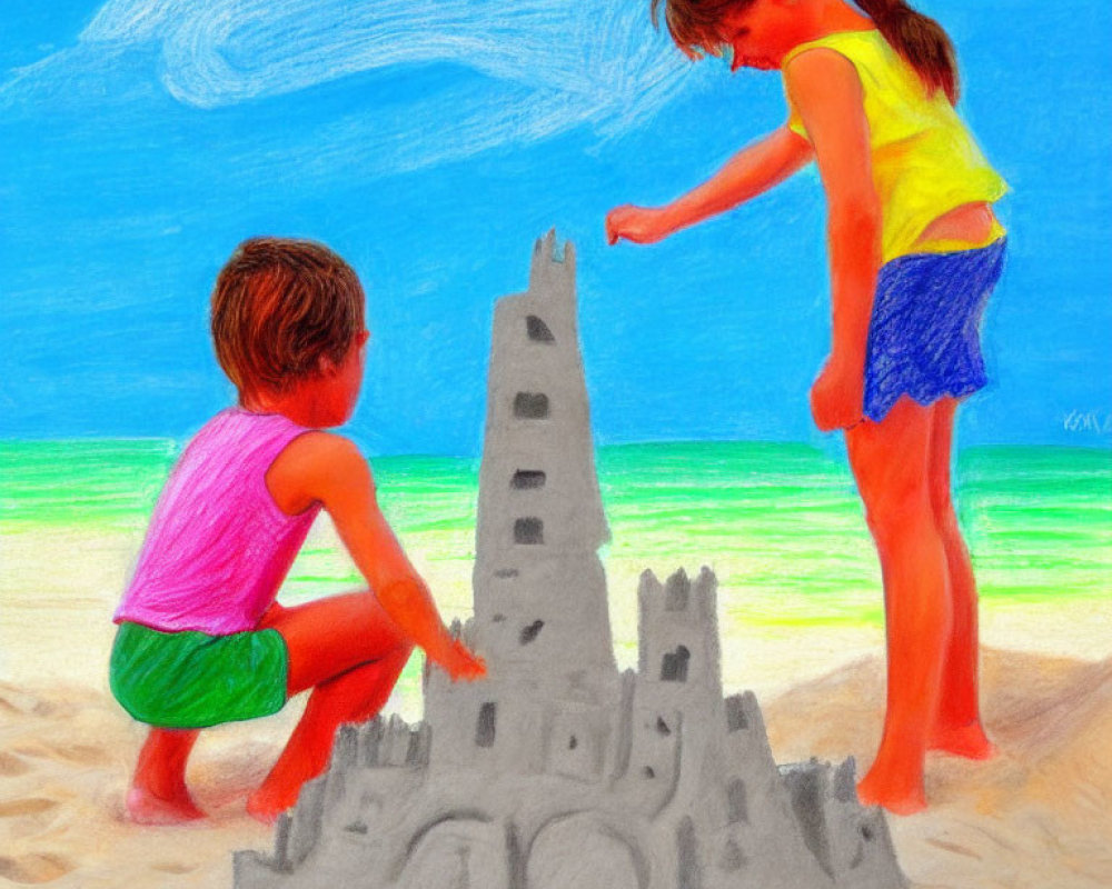
<svg viewBox="0 0 1112 889">
<path fill-rule="evenodd" d="M 247 802 L 272 821 L 328 765 L 344 722 L 370 719 L 415 645 L 453 679 L 483 661 L 445 628 L 348 439 L 368 332 L 351 268 L 309 241 L 240 244 L 212 294 L 217 358 L 239 390 L 173 468 L 116 612 L 111 687 L 150 732 L 127 797 L 143 823 L 200 818 L 186 788 L 198 730 L 305 715 Z M 369 591 L 284 608 L 275 596 L 309 526 L 331 517 Z"/>
</svg>

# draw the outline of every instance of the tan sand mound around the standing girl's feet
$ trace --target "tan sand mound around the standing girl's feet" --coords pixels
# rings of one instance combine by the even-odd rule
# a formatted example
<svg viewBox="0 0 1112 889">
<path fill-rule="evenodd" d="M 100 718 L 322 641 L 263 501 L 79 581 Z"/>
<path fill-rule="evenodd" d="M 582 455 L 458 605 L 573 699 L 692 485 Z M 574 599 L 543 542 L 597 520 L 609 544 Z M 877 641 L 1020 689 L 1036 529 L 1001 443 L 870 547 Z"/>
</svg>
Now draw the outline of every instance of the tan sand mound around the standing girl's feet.
<svg viewBox="0 0 1112 889">
<path fill-rule="evenodd" d="M 932 755 L 929 808 L 888 818 L 916 887 L 1112 886 L 1112 659 L 986 650 L 989 762 Z M 846 665 L 766 708 L 780 761 L 853 755 L 867 768 L 883 719 L 880 659 Z"/>
</svg>

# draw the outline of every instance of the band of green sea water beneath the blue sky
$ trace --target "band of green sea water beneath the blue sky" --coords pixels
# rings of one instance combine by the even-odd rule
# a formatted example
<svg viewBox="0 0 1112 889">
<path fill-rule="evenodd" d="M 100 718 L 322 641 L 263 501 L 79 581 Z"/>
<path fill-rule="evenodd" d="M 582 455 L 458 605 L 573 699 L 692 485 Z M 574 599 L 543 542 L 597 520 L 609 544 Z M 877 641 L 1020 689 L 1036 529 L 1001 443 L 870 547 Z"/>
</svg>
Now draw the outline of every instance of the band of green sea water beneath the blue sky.
<svg viewBox="0 0 1112 889">
<path fill-rule="evenodd" d="M 0 532 L 141 535 L 177 452 L 167 440 L 2 441 Z M 383 509 L 407 549 L 469 571 L 478 460 L 381 457 L 373 466 Z M 848 469 L 814 448 L 618 446 L 602 449 L 597 466 L 610 523 L 608 562 L 665 569 L 713 562 L 724 569 L 723 586 L 813 603 L 854 601 L 877 580 Z M 1112 591 L 1112 452 L 966 450 L 955 486 L 982 596 Z M 358 580 L 332 549 L 310 540 L 288 581 L 295 596 Z M 743 569 L 744 577 L 732 573 Z M 794 612 L 785 608 L 784 619 Z"/>
</svg>

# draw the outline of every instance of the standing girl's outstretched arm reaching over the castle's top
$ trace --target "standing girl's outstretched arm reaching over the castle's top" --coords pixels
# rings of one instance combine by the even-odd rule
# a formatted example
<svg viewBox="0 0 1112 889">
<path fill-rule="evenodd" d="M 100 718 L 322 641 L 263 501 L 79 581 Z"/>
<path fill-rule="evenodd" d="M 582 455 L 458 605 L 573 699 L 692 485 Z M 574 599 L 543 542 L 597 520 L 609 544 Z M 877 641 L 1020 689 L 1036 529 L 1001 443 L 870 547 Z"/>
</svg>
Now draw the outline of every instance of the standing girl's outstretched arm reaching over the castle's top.
<svg viewBox="0 0 1112 889">
<path fill-rule="evenodd" d="M 664 207 L 623 204 L 606 214 L 606 240 L 652 243 L 725 212 L 784 181 L 812 159 L 807 140 L 787 127 L 747 146 L 703 184 Z"/>
</svg>

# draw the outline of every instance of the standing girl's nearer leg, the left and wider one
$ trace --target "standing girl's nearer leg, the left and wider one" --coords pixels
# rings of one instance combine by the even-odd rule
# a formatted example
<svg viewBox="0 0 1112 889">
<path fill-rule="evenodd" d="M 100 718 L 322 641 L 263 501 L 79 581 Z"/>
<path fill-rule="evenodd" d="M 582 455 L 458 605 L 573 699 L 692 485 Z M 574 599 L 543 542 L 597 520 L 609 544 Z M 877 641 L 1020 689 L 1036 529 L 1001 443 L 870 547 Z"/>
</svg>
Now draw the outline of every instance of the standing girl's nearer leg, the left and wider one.
<svg viewBox="0 0 1112 889">
<path fill-rule="evenodd" d="M 850 462 L 884 579 L 884 735 L 857 787 L 862 802 L 910 813 L 926 805 L 923 760 L 950 633 L 946 557 L 927 486 L 933 408 L 901 399 L 881 422 L 846 432 Z"/>
</svg>

